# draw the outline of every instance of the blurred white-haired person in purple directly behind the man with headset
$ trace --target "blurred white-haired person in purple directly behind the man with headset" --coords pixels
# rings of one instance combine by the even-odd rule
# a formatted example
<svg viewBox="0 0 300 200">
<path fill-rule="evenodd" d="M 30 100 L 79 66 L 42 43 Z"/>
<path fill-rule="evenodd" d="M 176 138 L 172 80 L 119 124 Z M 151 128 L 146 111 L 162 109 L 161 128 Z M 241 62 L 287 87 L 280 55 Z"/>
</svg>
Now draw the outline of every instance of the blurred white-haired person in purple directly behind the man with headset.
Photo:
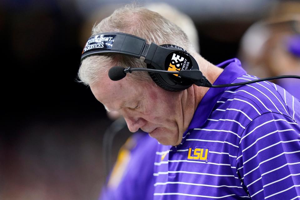
<svg viewBox="0 0 300 200">
<path fill-rule="evenodd" d="M 145 7 L 181 27 L 199 52 L 197 29 L 190 17 L 166 3 L 153 3 Z M 164 12 L 166 10 L 171 14 Z M 116 120 L 122 116 L 117 111 L 111 111 L 108 112 L 108 117 Z M 143 131 L 128 138 L 118 153 L 117 162 L 108 178 L 107 186 L 103 187 L 100 199 L 153 199 L 153 170 L 157 147 L 157 141 Z"/>
</svg>

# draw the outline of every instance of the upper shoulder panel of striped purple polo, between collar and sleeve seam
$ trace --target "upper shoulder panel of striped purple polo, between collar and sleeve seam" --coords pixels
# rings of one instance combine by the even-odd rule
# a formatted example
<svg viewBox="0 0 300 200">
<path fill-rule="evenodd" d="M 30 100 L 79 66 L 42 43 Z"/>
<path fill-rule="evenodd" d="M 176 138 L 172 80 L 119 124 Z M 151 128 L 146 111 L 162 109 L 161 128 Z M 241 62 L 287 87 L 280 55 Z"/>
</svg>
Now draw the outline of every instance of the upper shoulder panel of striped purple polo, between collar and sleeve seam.
<svg viewBox="0 0 300 200">
<path fill-rule="evenodd" d="M 245 74 L 234 83 L 255 80 L 257 77 Z M 243 111 L 252 121 L 264 113 L 279 113 L 287 117 L 299 117 L 299 100 L 280 86 L 263 81 L 238 87 L 228 87 L 218 101 L 215 109 L 235 108 Z M 217 108 L 218 107 L 218 108 Z"/>
</svg>

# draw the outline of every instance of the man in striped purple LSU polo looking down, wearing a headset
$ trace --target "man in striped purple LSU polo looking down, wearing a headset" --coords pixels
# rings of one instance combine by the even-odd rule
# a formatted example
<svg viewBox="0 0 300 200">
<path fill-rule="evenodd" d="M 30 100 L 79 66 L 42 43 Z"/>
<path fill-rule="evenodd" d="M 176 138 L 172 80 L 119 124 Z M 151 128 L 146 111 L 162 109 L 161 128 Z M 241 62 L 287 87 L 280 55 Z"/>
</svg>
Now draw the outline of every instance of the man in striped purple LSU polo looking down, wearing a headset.
<svg viewBox="0 0 300 200">
<path fill-rule="evenodd" d="M 157 13 L 132 5 L 116 10 L 93 34 L 125 32 L 148 43 L 183 47 L 214 85 L 254 80 L 237 59 L 214 66 L 193 49 L 184 32 Z M 277 85 L 164 90 L 146 73 L 113 82 L 108 69 L 145 67 L 119 54 L 85 58 L 79 78 L 128 128 L 160 145 L 153 199 L 296 199 L 300 197 L 300 103 Z M 143 177 L 141 177 L 143 178 Z"/>
</svg>

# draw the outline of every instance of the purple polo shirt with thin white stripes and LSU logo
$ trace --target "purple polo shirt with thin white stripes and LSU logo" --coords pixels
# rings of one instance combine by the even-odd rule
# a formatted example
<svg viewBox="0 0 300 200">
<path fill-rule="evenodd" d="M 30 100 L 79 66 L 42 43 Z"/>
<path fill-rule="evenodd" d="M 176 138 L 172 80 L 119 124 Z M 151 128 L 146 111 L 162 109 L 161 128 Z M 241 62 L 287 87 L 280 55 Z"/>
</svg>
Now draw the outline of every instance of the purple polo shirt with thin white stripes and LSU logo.
<svg viewBox="0 0 300 200">
<path fill-rule="evenodd" d="M 237 59 L 215 85 L 257 79 Z M 178 146 L 158 145 L 157 199 L 300 198 L 300 103 L 259 82 L 210 88 Z"/>
</svg>

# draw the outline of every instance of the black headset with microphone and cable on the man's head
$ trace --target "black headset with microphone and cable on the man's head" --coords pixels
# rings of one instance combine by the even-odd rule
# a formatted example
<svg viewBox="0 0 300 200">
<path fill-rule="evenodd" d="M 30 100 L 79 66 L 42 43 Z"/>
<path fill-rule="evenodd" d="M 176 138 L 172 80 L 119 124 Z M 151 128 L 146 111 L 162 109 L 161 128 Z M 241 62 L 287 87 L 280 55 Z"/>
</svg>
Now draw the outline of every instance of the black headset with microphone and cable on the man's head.
<svg viewBox="0 0 300 200">
<path fill-rule="evenodd" d="M 222 88 L 246 85 L 261 81 L 279 78 L 299 78 L 300 76 L 286 75 L 270 78 L 262 78 L 242 83 L 212 85 L 202 72 L 195 60 L 182 47 L 173 44 L 157 45 L 146 43 L 146 40 L 122 32 L 107 32 L 93 35 L 83 48 L 81 62 L 84 58 L 105 53 L 119 53 L 133 58 L 145 58 L 147 68 L 112 67 L 108 76 L 113 81 L 118 81 L 133 71 L 148 72 L 153 81 L 161 88 L 168 91 L 181 91 L 192 84 L 208 88 Z"/>
</svg>

